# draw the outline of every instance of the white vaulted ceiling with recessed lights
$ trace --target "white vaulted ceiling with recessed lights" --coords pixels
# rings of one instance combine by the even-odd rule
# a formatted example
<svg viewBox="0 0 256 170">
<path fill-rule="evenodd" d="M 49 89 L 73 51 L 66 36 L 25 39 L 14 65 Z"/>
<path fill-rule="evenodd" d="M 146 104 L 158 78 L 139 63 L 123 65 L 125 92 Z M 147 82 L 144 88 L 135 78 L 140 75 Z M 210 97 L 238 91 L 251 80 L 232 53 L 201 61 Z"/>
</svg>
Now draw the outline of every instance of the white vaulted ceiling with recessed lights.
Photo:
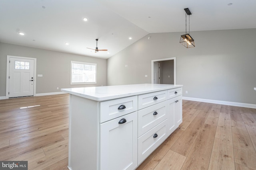
<svg viewBox="0 0 256 170">
<path fill-rule="evenodd" d="M 255 7 L 256 0 L 0 0 L 0 42 L 107 59 L 148 33 L 185 32 L 184 8 L 190 31 L 203 31 L 256 28 Z M 109 54 L 86 49 L 96 38 Z"/>
</svg>

